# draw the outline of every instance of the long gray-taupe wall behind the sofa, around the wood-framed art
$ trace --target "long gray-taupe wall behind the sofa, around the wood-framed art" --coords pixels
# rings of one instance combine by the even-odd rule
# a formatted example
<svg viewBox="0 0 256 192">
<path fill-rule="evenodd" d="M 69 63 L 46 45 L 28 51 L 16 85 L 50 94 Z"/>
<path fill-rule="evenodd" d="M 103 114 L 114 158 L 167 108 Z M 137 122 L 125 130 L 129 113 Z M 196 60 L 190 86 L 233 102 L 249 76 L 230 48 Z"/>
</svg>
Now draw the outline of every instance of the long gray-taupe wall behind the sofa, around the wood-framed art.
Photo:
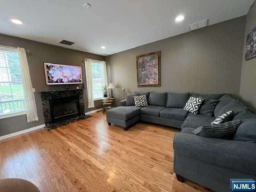
<svg viewBox="0 0 256 192">
<path fill-rule="evenodd" d="M 242 16 L 107 56 L 115 96 L 122 100 L 133 91 L 148 90 L 238 96 L 245 20 Z M 159 50 L 162 86 L 138 88 L 136 56 Z"/>
</svg>

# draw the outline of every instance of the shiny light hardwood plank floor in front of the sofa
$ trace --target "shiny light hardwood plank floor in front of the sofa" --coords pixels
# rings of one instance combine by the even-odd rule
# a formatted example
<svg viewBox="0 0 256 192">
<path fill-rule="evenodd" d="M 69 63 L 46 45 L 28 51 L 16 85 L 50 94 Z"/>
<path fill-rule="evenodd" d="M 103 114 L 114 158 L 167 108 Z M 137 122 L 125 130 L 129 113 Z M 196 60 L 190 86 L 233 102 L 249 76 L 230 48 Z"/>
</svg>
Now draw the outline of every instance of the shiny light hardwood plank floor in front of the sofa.
<svg viewBox="0 0 256 192">
<path fill-rule="evenodd" d="M 24 178 L 41 192 L 209 191 L 173 174 L 178 129 L 140 122 L 124 131 L 102 112 L 55 130 L 0 141 L 0 178 Z"/>
</svg>

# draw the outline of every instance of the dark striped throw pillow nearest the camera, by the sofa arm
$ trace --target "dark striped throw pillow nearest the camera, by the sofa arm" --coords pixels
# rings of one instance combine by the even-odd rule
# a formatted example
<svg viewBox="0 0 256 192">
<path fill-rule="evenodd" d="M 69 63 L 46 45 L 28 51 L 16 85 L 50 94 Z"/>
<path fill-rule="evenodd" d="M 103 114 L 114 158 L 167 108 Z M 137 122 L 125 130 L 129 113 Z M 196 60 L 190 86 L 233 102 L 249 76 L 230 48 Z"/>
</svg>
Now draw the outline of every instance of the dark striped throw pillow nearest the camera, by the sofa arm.
<svg viewBox="0 0 256 192">
<path fill-rule="evenodd" d="M 218 125 L 204 125 L 192 131 L 193 134 L 202 137 L 232 139 L 238 126 L 242 123 L 241 120 L 228 121 Z"/>
</svg>

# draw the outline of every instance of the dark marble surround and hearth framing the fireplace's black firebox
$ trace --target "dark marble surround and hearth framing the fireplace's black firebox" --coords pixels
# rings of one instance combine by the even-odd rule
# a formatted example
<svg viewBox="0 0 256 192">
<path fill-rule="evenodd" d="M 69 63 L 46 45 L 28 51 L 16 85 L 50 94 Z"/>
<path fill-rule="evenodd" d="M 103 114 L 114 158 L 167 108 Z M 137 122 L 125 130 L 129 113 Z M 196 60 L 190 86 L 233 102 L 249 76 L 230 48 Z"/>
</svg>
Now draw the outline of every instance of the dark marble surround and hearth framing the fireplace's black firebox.
<svg viewBox="0 0 256 192">
<path fill-rule="evenodd" d="M 41 92 L 42 105 L 44 110 L 44 122 L 47 130 L 51 130 L 54 128 L 58 128 L 60 126 L 64 126 L 66 124 L 70 124 L 72 122 L 76 122 L 78 120 L 82 120 L 88 118 L 84 114 L 84 99 L 83 99 L 83 89 L 69 89 L 69 90 L 50 90 L 50 91 L 42 91 Z M 52 120 L 51 114 L 51 102 L 60 100 L 66 100 L 67 98 L 78 98 L 78 112 L 72 116 L 69 116 L 68 119 L 62 118 L 58 122 L 56 120 Z"/>
</svg>

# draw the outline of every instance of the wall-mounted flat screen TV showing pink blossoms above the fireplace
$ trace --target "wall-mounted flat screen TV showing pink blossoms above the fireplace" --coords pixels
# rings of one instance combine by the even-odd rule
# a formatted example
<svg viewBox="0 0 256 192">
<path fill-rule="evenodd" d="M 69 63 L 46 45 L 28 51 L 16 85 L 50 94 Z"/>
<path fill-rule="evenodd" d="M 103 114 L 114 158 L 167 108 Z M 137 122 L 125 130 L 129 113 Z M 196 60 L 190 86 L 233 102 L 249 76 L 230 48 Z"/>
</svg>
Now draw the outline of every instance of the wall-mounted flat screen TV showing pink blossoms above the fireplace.
<svg viewBox="0 0 256 192">
<path fill-rule="evenodd" d="M 81 66 L 44 63 L 44 71 L 47 85 L 83 83 Z"/>
</svg>

